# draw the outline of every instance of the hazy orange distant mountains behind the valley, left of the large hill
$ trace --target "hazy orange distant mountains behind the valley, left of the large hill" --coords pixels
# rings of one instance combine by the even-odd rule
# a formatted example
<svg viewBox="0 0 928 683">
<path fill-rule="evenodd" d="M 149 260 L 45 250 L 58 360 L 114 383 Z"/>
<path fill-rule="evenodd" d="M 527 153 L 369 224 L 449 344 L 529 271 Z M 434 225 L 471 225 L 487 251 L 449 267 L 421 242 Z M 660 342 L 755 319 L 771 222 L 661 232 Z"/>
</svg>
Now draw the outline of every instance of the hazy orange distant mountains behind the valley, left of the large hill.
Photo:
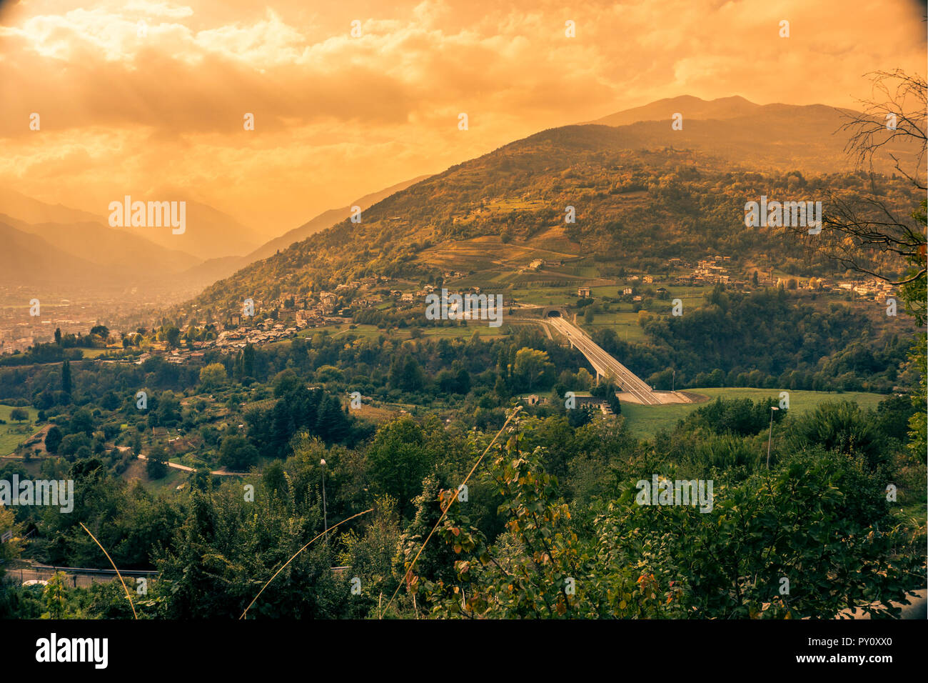
<svg viewBox="0 0 928 683">
<path fill-rule="evenodd" d="M 365 210 L 424 177 L 323 212 L 257 249 L 258 240 L 250 229 L 176 191 L 130 194 L 141 201 L 150 196 L 186 201 L 187 226 L 179 235 L 170 228 L 110 228 L 109 214 L 97 216 L 62 204 L 46 204 L 14 190 L 0 190 L 0 223 L 4 225 L 0 244 L 5 266 L 0 282 L 71 283 L 92 288 L 157 280 L 162 293 L 199 291 L 254 260 L 272 256 L 340 222 L 350 216 L 351 206 Z"/>
</svg>

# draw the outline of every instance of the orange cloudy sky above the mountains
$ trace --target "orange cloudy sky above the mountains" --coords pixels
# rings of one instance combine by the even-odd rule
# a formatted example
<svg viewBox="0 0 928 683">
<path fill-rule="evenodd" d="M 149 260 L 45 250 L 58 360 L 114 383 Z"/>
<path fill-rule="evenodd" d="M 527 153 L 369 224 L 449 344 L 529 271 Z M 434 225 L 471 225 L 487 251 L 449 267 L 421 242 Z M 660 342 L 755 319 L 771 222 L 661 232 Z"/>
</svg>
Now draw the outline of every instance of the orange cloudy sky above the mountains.
<svg viewBox="0 0 928 683">
<path fill-rule="evenodd" d="M 0 184 L 99 215 L 183 188 L 265 238 L 544 128 L 684 94 L 854 107 L 926 59 L 913 0 L 2 7 Z"/>
</svg>

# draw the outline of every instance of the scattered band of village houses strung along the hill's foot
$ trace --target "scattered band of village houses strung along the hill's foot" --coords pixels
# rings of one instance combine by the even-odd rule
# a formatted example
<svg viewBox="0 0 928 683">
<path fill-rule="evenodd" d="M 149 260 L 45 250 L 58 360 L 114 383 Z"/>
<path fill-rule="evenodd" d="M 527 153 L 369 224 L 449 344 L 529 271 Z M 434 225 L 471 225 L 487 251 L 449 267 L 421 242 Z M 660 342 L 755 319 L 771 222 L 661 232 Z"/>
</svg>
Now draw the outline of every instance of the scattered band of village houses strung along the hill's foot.
<svg viewBox="0 0 928 683">
<path fill-rule="evenodd" d="M 562 260 L 549 262 L 543 258 L 536 258 L 515 269 L 515 273 L 535 273 L 541 276 L 546 269 L 561 268 L 563 263 Z M 787 290 L 809 290 L 831 296 L 850 296 L 857 301 L 875 302 L 885 301 L 893 292 L 893 286 L 889 282 L 876 278 L 801 278 L 775 275 L 770 270 L 749 270 L 750 272 L 736 271 L 730 256 L 706 256 L 695 265 L 675 257 L 666 261 L 663 276 L 643 272 L 626 274 L 624 278 L 613 281 L 612 286 L 615 287 L 615 300 L 635 305 L 642 305 L 651 297 L 669 298 L 670 291 L 667 287 L 707 288 L 715 284 L 745 291 L 758 286 L 782 286 Z M 472 275 L 472 272 L 445 270 L 440 278 L 436 278 L 437 284 L 417 284 L 375 275 L 344 282 L 332 291 L 320 290 L 305 294 L 284 292 L 270 301 L 254 299 L 253 318 L 245 315 L 242 309 L 226 311 L 225 316 L 216 316 L 213 311 L 206 312 L 196 306 L 190 310 L 181 309 L 178 314 L 182 318 L 193 320 L 180 327 L 179 338 L 181 342 L 187 343 L 172 350 L 164 340 L 148 340 L 144 345 L 144 352 L 135 357 L 135 362 L 145 361 L 151 354 L 164 355 L 167 361 L 175 363 L 196 361 L 203 356 L 204 351 L 211 348 L 233 352 L 249 344 L 273 343 L 299 335 L 307 329 L 351 323 L 354 315 L 364 309 L 415 307 L 423 303 L 426 296 L 440 291 L 443 286 L 448 289 L 449 294 L 479 295 L 484 291 L 479 285 L 453 286 L 454 282 L 465 279 L 472 282 Z M 601 293 L 601 286 L 597 286 L 596 289 Z M 589 286 L 579 286 L 575 292 L 578 299 L 592 297 L 592 289 Z M 505 306 L 519 305 L 518 297 L 507 292 L 503 294 Z M 68 304 L 69 302 L 64 302 L 65 308 L 59 310 L 67 310 Z M 83 320 L 71 321 L 55 316 L 51 320 L 42 321 L 41 328 L 38 328 L 35 319 L 28 316 L 28 311 L 26 315 L 19 317 L 6 317 L 0 322 L 0 351 L 4 354 L 15 354 L 31 348 L 37 342 L 51 341 L 55 327 L 66 330 L 71 326 L 71 322 L 82 323 L 83 327 L 88 324 Z M 109 343 L 98 340 L 96 346 L 114 351 L 131 347 L 131 343 L 125 342 L 126 336 L 132 339 L 131 333 L 111 335 Z"/>
</svg>

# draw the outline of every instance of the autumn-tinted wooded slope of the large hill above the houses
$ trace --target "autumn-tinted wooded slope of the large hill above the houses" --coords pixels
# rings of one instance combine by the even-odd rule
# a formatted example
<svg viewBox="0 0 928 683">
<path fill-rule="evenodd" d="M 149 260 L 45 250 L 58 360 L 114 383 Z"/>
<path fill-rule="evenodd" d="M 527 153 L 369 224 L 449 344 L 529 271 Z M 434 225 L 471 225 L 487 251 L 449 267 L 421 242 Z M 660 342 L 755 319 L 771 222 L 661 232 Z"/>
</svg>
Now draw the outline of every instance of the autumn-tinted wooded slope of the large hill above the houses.
<svg viewBox="0 0 928 683">
<path fill-rule="evenodd" d="M 714 123 L 693 122 L 697 125 Z M 721 135 L 715 131 L 713 138 Z M 736 161 L 739 151 L 749 152 L 746 142 L 719 156 L 717 149 L 711 155 L 680 149 L 686 143 L 675 139 L 645 135 L 636 125 L 539 133 L 393 194 L 363 212 L 360 223 L 346 219 L 240 270 L 208 288 L 192 307 L 236 309 L 244 298 L 329 289 L 371 274 L 434 279 L 441 269 L 423 255 L 429 247 L 483 235 L 504 242 L 541 240 L 548 230 L 561 228 L 575 256 L 625 268 L 717 254 L 730 256 L 736 265 L 777 264 L 822 275 L 834 269 L 821 257 L 810 261 L 792 235 L 746 228 L 744 204 L 761 195 L 822 201 L 827 213 L 831 197 L 859 190 L 872 191 L 896 208 L 915 204 L 902 177 L 812 175 L 783 163 L 780 170 L 758 172 L 757 166 L 766 164 L 756 157 L 750 157 L 751 164 Z M 795 153 L 797 163 L 810 155 Z M 564 220 L 569 206 L 574 223 Z M 883 258 L 884 268 L 904 268 L 890 256 Z"/>
</svg>

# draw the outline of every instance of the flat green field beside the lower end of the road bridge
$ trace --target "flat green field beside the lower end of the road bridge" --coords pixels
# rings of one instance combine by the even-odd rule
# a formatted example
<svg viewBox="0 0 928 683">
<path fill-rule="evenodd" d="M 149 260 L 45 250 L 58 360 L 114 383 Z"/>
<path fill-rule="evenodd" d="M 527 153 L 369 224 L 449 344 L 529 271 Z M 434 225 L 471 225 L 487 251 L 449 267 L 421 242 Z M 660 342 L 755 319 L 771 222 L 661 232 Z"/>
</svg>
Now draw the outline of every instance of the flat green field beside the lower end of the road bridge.
<svg viewBox="0 0 928 683">
<path fill-rule="evenodd" d="M 719 396 L 726 399 L 747 398 L 752 401 L 779 398 L 781 390 L 783 389 L 744 387 L 686 389 L 688 393 L 702 394 L 702 396 L 708 397 L 710 401 L 715 401 Z M 622 394 L 619 394 L 619 399 L 621 400 L 621 398 Z M 886 398 L 888 397 L 883 394 L 790 391 L 790 410 L 793 414 L 803 414 L 824 401 L 857 401 L 857 405 L 861 408 L 876 408 L 877 404 Z M 622 414 L 625 416 L 625 426 L 628 427 L 628 430 L 639 439 L 647 439 L 654 436 L 660 429 L 673 430 L 677 426 L 677 420 L 686 417 L 687 414 L 690 414 L 690 411 L 696 410 L 705 404 L 706 401 L 702 401 L 702 403 L 672 403 L 670 405 L 638 405 L 623 402 Z"/>
</svg>

